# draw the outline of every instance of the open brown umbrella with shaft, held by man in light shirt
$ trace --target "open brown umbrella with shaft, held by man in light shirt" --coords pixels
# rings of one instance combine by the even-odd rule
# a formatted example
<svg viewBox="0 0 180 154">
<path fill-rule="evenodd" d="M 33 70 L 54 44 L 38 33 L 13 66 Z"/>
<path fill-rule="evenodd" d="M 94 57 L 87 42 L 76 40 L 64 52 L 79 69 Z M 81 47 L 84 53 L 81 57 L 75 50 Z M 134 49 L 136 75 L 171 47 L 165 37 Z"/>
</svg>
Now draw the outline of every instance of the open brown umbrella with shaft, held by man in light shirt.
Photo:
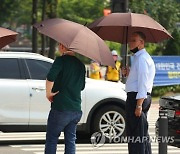
<svg viewBox="0 0 180 154">
<path fill-rule="evenodd" d="M 88 26 L 104 40 L 127 44 L 132 33 L 143 32 L 146 42 L 157 43 L 172 38 L 168 31 L 151 17 L 137 13 L 112 13 Z M 127 47 L 125 54 L 126 65 Z"/>
</svg>

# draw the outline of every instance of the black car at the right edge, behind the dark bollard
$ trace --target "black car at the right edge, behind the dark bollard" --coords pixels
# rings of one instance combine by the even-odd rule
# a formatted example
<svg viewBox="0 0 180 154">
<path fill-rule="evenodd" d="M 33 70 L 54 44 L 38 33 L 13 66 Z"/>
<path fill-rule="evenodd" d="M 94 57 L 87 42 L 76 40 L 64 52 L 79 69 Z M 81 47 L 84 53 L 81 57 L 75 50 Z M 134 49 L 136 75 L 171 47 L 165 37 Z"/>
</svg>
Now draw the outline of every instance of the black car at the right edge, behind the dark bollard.
<svg viewBox="0 0 180 154">
<path fill-rule="evenodd" d="M 159 100 L 161 110 L 168 111 L 168 136 L 174 137 L 171 145 L 180 147 L 180 95 L 161 97 Z M 158 135 L 158 120 L 156 122 L 156 134 Z"/>
</svg>

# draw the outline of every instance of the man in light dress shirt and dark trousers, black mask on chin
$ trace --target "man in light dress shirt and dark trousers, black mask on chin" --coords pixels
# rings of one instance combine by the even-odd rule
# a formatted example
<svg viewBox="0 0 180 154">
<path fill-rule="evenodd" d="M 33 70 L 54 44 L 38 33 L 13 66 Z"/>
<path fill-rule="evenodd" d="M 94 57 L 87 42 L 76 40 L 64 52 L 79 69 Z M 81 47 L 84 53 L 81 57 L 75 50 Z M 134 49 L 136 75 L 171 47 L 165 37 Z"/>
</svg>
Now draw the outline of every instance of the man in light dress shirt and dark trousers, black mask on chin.
<svg viewBox="0 0 180 154">
<path fill-rule="evenodd" d="M 126 131 L 129 154 L 151 154 L 148 134 L 147 112 L 151 105 L 151 91 L 155 76 L 155 65 L 144 48 L 146 36 L 142 32 L 132 34 L 129 42 L 134 53 L 126 82 Z"/>
</svg>

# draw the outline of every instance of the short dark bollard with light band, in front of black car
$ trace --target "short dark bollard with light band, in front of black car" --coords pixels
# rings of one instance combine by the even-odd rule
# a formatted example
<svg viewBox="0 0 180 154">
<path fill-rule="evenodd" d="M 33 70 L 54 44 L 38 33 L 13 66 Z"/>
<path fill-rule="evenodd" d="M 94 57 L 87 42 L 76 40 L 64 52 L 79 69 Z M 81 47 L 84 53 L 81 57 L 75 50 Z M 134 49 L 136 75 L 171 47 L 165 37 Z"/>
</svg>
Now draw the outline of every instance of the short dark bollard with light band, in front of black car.
<svg viewBox="0 0 180 154">
<path fill-rule="evenodd" d="M 168 118 L 167 110 L 159 110 L 159 154 L 167 154 Z"/>
</svg>

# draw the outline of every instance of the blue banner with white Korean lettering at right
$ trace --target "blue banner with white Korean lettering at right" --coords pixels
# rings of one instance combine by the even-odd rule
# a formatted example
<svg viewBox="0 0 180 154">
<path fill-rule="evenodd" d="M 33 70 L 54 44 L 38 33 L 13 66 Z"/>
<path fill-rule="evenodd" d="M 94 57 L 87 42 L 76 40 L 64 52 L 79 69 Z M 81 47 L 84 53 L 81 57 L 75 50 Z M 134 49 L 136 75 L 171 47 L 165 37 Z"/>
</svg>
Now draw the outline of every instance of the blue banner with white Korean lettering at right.
<svg viewBox="0 0 180 154">
<path fill-rule="evenodd" d="M 152 56 L 156 75 L 154 86 L 180 84 L 180 56 Z"/>
</svg>

